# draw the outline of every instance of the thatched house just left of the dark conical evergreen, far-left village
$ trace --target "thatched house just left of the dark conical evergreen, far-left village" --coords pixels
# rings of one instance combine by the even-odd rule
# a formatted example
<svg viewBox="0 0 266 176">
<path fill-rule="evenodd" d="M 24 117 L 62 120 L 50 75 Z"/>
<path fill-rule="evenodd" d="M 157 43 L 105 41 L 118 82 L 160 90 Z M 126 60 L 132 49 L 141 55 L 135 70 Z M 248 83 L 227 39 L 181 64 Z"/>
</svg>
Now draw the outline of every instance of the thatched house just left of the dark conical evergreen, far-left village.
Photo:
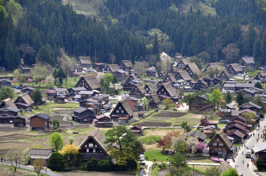
<svg viewBox="0 0 266 176">
<path fill-rule="evenodd" d="M 23 108 L 24 111 L 28 111 L 33 108 L 34 101 L 27 93 L 21 93 L 18 98 L 14 101 L 14 104 L 18 108 Z"/>
</svg>

